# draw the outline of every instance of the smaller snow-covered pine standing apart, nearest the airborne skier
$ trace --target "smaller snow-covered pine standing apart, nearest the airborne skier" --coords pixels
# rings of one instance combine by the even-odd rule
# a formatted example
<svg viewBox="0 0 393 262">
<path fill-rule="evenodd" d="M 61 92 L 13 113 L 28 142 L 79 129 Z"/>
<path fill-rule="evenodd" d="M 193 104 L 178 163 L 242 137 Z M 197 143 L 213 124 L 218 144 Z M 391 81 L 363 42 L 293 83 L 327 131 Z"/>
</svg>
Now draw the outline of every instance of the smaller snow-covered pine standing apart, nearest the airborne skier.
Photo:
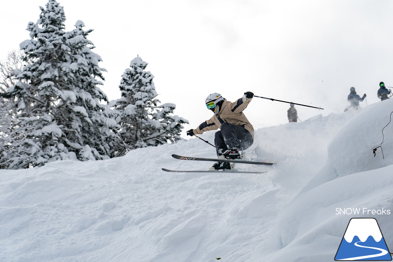
<svg viewBox="0 0 393 262">
<path fill-rule="evenodd" d="M 116 101 L 116 109 L 121 114 L 119 156 L 129 149 L 176 142 L 180 139 L 182 124 L 188 123 L 184 118 L 171 115 L 176 105 L 158 105 L 154 76 L 144 71 L 146 66 L 138 56 L 122 75 L 121 98 Z"/>
</svg>

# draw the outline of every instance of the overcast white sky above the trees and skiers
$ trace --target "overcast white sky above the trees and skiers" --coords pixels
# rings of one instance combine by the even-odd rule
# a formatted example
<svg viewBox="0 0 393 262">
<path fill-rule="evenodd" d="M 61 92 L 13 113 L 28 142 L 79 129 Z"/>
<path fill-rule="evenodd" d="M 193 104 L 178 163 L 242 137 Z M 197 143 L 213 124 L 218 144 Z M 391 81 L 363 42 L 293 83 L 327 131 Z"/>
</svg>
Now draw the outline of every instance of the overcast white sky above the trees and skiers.
<svg viewBox="0 0 393 262">
<path fill-rule="evenodd" d="M 77 20 L 108 70 L 101 87 L 120 97 L 121 74 L 137 54 L 149 65 L 162 103 L 189 120 L 211 117 L 206 96 L 230 101 L 246 91 L 324 110 L 296 106 L 300 120 L 341 113 L 349 88 L 367 104 L 380 101 L 380 81 L 393 87 L 391 0 L 127 0 L 96 4 L 59 0 L 66 30 Z M 29 39 L 29 21 L 46 0 L 3 1 L 0 58 Z M 360 103 L 366 106 L 366 101 Z M 255 129 L 288 122 L 289 105 L 254 98 L 244 111 Z M 185 133 L 185 131 L 184 131 Z"/>
</svg>

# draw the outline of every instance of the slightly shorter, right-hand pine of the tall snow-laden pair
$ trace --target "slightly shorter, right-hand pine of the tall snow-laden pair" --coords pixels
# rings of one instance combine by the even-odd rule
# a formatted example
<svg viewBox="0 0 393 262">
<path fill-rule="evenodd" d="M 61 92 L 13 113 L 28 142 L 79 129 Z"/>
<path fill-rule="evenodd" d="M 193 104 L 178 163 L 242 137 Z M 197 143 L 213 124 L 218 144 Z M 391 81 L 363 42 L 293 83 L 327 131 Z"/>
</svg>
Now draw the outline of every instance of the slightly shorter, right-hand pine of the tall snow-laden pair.
<svg viewBox="0 0 393 262">
<path fill-rule="evenodd" d="M 104 80 L 102 72 L 106 70 L 98 66 L 102 59 L 91 51 L 95 46 L 86 38 L 93 30 L 84 31 L 84 23 L 80 20 L 75 27 L 68 33 L 70 65 L 64 68 L 69 77 L 67 82 L 72 86 L 72 97 L 63 98 L 67 106 L 62 109 L 62 119 L 68 119 L 66 125 L 75 130 L 67 133 L 67 139 L 85 145 L 78 152 L 80 160 L 107 158 L 118 140 L 112 129 L 119 126 L 114 120 L 116 111 L 110 109 L 106 94 L 98 87 L 103 83 L 96 79 Z"/>
</svg>

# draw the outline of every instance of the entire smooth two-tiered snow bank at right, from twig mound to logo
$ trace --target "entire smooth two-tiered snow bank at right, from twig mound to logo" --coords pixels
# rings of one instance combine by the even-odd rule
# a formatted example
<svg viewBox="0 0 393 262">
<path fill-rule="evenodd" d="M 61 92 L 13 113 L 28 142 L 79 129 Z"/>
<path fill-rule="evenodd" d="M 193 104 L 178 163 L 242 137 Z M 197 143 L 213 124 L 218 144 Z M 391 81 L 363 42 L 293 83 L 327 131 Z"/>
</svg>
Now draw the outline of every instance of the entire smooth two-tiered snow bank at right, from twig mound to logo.
<svg viewBox="0 0 393 262">
<path fill-rule="evenodd" d="M 277 215 L 270 239 L 279 250 L 264 260 L 332 261 L 353 217 L 376 218 L 387 232 L 387 246 L 393 246 L 393 123 L 387 125 L 392 111 L 393 100 L 376 103 L 343 125 L 328 146 L 325 166 Z M 385 159 L 381 148 L 375 157 L 372 151 L 384 127 Z"/>
</svg>

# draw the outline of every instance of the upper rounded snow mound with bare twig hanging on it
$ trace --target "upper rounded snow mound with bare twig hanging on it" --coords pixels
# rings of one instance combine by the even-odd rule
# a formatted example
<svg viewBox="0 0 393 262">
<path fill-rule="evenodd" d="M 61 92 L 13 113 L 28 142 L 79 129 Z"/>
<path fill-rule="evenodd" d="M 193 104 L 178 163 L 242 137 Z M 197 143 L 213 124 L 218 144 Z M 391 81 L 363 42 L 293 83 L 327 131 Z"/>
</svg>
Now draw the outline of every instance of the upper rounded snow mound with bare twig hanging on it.
<svg viewBox="0 0 393 262">
<path fill-rule="evenodd" d="M 375 103 L 354 116 L 338 131 L 328 147 L 329 159 L 338 176 L 393 164 L 393 123 L 387 125 L 392 111 L 393 99 Z M 378 148 L 374 157 L 372 149 L 382 139 L 382 149 Z"/>
</svg>

